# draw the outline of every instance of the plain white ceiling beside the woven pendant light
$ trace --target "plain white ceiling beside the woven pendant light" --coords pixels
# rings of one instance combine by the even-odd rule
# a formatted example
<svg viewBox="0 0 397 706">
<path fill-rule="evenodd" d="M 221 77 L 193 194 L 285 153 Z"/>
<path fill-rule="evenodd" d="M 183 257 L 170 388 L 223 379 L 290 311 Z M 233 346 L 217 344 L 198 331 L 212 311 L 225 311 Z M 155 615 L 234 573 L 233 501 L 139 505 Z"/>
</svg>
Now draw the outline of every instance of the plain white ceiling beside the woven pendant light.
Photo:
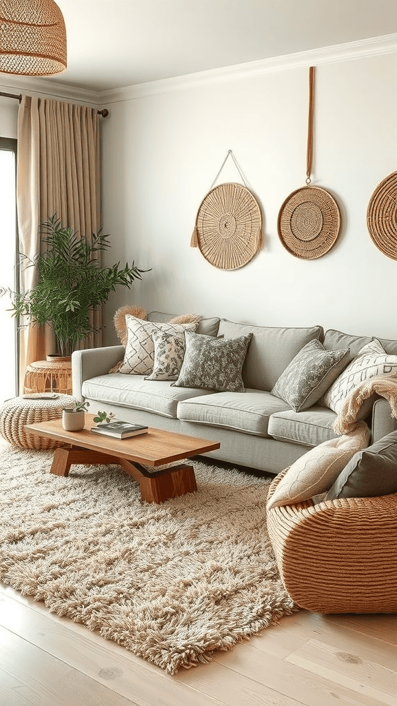
<svg viewBox="0 0 397 706">
<path fill-rule="evenodd" d="M 94 91 L 397 32 L 397 0 L 57 0 L 68 68 Z"/>
</svg>

